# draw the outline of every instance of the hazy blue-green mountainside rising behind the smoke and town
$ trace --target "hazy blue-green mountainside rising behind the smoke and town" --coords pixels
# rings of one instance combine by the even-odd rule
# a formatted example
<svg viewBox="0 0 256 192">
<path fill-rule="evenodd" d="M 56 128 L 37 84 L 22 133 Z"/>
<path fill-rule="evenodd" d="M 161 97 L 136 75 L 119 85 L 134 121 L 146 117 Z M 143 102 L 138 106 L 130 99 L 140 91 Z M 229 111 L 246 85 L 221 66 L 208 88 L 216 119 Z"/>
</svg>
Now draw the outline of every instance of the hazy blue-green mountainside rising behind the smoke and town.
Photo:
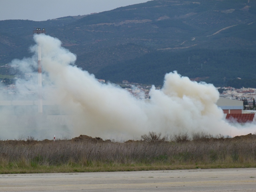
<svg viewBox="0 0 256 192">
<path fill-rule="evenodd" d="M 78 66 L 112 82 L 159 85 L 178 70 L 216 86 L 239 77 L 246 86 L 256 71 L 252 0 L 152 0 L 87 16 L 0 21 L 1 65 L 29 56 L 35 27 L 59 38 Z"/>
</svg>

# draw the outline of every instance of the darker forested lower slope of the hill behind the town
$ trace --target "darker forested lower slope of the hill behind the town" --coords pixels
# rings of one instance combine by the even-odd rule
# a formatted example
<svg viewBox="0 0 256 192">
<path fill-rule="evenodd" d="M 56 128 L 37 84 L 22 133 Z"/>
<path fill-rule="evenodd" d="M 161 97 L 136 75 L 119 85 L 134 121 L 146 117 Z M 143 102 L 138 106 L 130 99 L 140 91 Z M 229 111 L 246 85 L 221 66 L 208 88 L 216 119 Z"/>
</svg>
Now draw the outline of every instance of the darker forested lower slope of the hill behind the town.
<svg viewBox="0 0 256 192">
<path fill-rule="evenodd" d="M 177 70 L 179 74 L 192 80 L 226 86 L 232 79 L 256 78 L 255 54 L 253 50 L 154 51 L 140 58 L 103 68 L 97 75 L 114 82 L 126 79 L 130 82 L 162 85 L 164 75 Z"/>
</svg>

